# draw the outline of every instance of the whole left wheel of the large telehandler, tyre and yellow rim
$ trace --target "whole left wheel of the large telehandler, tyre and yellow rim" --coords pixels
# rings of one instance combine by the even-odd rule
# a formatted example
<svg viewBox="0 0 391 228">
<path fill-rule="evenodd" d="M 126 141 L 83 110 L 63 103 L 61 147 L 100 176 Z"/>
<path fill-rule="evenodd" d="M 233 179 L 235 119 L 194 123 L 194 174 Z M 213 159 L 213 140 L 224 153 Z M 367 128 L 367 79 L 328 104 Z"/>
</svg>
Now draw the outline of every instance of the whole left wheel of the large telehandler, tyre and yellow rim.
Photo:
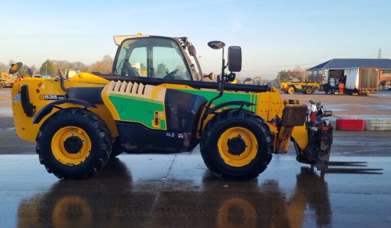
<svg viewBox="0 0 391 228">
<path fill-rule="evenodd" d="M 111 134 L 89 110 L 63 109 L 50 116 L 37 136 L 36 152 L 49 173 L 62 179 L 85 179 L 109 159 Z"/>
</svg>

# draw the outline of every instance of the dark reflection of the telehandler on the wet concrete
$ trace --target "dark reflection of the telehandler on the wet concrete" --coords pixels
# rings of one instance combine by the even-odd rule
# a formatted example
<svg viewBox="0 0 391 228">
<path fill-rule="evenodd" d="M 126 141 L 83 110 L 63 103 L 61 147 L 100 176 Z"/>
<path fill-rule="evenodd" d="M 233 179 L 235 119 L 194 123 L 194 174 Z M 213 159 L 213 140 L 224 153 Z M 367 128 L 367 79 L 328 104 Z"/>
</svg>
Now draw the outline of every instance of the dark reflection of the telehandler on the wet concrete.
<svg viewBox="0 0 391 228">
<path fill-rule="evenodd" d="M 186 185 L 194 183 L 186 181 L 184 191 L 139 190 L 137 185 L 148 183 L 132 181 L 126 164 L 112 160 L 89 180 L 58 181 L 45 194 L 24 199 L 17 227 L 295 228 L 312 219 L 308 213 L 318 227 L 332 222 L 327 182 L 310 168 L 301 168 L 291 193 L 275 180 L 228 182 L 221 188 L 204 172 L 199 191 L 189 190 Z"/>
</svg>

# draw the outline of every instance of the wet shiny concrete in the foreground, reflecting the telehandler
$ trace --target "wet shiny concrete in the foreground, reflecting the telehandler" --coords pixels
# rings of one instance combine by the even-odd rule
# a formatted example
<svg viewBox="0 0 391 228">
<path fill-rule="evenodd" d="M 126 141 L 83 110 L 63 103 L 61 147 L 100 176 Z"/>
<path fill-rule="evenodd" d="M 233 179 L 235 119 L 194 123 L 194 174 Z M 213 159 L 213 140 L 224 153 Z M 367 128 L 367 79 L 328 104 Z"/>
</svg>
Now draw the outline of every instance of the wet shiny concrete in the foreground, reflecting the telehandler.
<svg viewBox="0 0 391 228">
<path fill-rule="evenodd" d="M 384 171 L 312 172 L 276 155 L 257 179 L 216 179 L 199 155 L 120 155 L 89 180 L 59 181 L 36 155 L 0 156 L 1 227 L 391 227 Z"/>
</svg>

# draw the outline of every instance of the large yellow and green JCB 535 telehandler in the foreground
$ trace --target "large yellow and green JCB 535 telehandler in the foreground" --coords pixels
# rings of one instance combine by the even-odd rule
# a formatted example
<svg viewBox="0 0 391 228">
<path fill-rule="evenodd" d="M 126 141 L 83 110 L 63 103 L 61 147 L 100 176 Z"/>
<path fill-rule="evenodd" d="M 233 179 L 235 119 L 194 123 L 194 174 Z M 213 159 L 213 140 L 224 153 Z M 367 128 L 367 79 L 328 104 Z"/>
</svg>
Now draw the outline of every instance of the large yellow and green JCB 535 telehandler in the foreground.
<svg viewBox="0 0 391 228">
<path fill-rule="evenodd" d="M 59 70 L 59 80 L 24 78 L 12 89 L 18 137 L 37 143 L 41 164 L 57 178 L 88 178 L 122 152 L 180 153 L 198 143 L 220 178 L 257 177 L 290 140 L 299 162 L 327 169 L 331 126 L 306 123 L 307 106 L 281 100 L 274 87 L 227 83 L 241 70 L 241 47 L 228 48 L 225 64 L 225 44 L 209 42 L 223 58 L 217 82 L 206 82 L 186 37 L 114 40 L 110 74 L 64 78 Z"/>
</svg>

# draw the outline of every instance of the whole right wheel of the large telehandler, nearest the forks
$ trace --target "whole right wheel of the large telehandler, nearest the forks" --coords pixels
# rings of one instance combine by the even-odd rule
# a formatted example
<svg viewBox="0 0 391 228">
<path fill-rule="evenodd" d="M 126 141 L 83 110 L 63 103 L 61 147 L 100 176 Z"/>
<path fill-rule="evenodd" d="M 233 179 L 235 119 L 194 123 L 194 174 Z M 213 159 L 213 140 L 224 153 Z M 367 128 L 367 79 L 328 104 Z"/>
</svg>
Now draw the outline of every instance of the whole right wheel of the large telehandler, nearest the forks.
<svg viewBox="0 0 391 228">
<path fill-rule="evenodd" d="M 205 165 L 223 179 L 257 177 L 271 160 L 273 140 L 268 125 L 252 112 L 231 109 L 214 116 L 200 143 Z"/>
</svg>

